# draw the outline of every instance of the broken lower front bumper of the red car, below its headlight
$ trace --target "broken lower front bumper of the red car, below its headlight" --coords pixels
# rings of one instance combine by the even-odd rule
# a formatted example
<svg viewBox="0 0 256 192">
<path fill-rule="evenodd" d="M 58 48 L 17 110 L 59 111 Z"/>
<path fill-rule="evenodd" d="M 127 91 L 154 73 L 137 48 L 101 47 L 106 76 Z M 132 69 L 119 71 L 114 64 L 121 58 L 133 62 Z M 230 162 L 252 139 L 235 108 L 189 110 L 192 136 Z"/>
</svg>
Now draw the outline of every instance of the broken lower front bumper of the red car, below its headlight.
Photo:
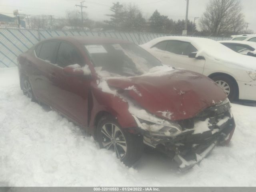
<svg viewBox="0 0 256 192">
<path fill-rule="evenodd" d="M 179 165 L 180 171 L 185 171 L 205 158 L 218 144 L 228 144 L 235 129 L 234 118 L 218 126 L 219 131 L 202 134 L 185 132 L 175 138 L 148 137 L 144 135 L 144 143 L 164 152 Z"/>
</svg>

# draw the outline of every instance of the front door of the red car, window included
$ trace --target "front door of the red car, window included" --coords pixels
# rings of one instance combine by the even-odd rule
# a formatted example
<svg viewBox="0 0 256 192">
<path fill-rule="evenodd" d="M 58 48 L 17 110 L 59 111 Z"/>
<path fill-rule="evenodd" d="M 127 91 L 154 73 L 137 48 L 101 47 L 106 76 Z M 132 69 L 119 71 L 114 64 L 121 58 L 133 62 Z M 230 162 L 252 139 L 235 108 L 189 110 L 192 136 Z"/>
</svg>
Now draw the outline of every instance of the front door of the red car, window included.
<svg viewBox="0 0 256 192">
<path fill-rule="evenodd" d="M 70 76 L 63 70 L 72 64 L 84 66 L 82 54 L 74 45 L 60 42 L 54 63 L 49 72 L 50 104 L 72 120 L 87 126 L 90 80 L 84 76 Z"/>
</svg>

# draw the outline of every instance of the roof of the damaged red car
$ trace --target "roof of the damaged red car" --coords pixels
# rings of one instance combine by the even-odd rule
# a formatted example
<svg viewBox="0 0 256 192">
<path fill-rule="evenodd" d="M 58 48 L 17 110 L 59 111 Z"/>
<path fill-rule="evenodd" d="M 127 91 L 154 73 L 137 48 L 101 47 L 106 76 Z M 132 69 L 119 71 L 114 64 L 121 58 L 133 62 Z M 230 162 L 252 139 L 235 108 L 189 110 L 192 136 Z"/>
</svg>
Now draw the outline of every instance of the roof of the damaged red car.
<svg viewBox="0 0 256 192">
<path fill-rule="evenodd" d="M 117 38 L 108 38 L 108 37 L 96 37 L 96 36 L 63 36 L 63 37 L 53 37 L 48 38 L 43 41 L 47 40 L 63 40 L 72 42 L 74 44 L 113 44 L 113 43 L 128 43 L 131 44 L 129 41 L 125 41 L 122 39 Z"/>
</svg>

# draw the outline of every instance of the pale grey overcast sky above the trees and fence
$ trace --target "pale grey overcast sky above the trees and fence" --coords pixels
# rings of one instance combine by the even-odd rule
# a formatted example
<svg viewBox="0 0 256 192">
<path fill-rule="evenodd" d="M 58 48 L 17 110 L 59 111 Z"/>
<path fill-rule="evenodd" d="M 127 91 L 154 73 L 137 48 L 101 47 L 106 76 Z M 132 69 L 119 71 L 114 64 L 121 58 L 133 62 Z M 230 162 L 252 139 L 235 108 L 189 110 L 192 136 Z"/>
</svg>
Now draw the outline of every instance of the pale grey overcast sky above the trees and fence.
<svg viewBox="0 0 256 192">
<path fill-rule="evenodd" d="M 65 17 L 66 10 L 80 10 L 75 4 L 82 0 L 0 0 L 0 13 L 8 16 L 13 10 L 18 9 L 24 14 L 54 15 L 55 18 Z M 244 7 L 245 20 L 249 23 L 248 29 L 256 32 L 256 0 L 241 0 Z M 84 2 L 88 6 L 85 11 L 92 20 L 106 20 L 105 14 L 110 14 L 109 8 L 117 0 L 89 0 Z M 166 15 L 173 20 L 184 19 L 186 14 L 186 0 L 119 0 L 120 3 L 135 3 L 142 10 L 144 16 L 149 18 L 154 10 Z M 202 16 L 209 0 L 190 0 L 189 19 Z M 197 20 L 198 21 L 198 20 Z"/>
</svg>

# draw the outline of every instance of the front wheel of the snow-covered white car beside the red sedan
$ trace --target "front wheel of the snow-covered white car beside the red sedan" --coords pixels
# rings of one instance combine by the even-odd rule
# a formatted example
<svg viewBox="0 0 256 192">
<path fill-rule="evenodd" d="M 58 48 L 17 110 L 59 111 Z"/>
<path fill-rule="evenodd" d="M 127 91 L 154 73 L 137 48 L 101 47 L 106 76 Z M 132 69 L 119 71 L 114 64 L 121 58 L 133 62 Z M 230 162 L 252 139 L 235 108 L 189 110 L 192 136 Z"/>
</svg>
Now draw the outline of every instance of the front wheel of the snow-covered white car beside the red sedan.
<svg viewBox="0 0 256 192">
<path fill-rule="evenodd" d="M 224 75 L 218 75 L 212 77 L 212 80 L 214 80 L 224 90 L 230 101 L 237 99 L 238 88 L 232 78 Z"/>
</svg>

